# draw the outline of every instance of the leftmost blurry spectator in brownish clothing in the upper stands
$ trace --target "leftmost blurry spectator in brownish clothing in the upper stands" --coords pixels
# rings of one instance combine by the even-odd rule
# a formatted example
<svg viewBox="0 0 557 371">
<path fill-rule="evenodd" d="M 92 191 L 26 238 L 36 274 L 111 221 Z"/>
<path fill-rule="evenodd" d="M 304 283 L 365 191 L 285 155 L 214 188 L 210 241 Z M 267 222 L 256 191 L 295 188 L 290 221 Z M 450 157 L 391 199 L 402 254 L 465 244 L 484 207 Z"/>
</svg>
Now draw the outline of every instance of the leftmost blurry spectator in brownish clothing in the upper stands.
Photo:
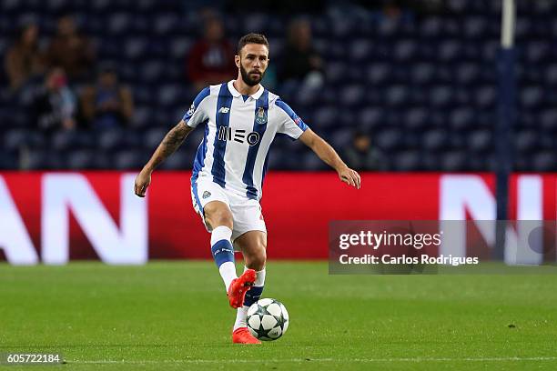
<svg viewBox="0 0 557 371">
<path fill-rule="evenodd" d="M 5 55 L 5 72 L 12 91 L 18 91 L 30 78 L 44 73 L 38 34 L 38 25 L 25 25 L 19 38 Z"/>
</svg>

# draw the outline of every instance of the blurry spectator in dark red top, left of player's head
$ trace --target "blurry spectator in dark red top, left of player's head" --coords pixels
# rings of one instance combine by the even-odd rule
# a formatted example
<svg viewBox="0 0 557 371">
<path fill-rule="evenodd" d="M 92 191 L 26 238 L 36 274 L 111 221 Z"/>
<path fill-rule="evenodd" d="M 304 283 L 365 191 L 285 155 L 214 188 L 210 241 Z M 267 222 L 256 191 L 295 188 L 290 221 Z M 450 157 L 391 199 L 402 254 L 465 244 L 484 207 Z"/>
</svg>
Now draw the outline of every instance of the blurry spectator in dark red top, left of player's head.
<svg viewBox="0 0 557 371">
<path fill-rule="evenodd" d="M 204 37 L 192 46 L 187 60 L 187 75 L 195 89 L 234 78 L 238 73 L 234 54 L 232 44 L 224 38 L 224 25 L 217 16 L 209 15 Z"/>
</svg>

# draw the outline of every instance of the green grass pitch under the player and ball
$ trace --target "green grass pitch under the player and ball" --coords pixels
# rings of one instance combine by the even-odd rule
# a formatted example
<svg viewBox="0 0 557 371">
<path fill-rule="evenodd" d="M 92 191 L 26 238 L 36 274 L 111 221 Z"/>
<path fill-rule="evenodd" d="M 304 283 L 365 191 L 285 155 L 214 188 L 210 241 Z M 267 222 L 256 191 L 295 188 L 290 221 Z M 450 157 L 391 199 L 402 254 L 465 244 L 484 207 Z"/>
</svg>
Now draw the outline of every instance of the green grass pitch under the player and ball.
<svg viewBox="0 0 557 371">
<path fill-rule="evenodd" d="M 287 306 L 289 331 L 238 346 L 212 262 L 2 264 L 0 353 L 66 359 L 32 370 L 557 369 L 557 275 L 329 276 L 324 262 L 275 261 L 267 270 L 263 296 Z"/>
</svg>

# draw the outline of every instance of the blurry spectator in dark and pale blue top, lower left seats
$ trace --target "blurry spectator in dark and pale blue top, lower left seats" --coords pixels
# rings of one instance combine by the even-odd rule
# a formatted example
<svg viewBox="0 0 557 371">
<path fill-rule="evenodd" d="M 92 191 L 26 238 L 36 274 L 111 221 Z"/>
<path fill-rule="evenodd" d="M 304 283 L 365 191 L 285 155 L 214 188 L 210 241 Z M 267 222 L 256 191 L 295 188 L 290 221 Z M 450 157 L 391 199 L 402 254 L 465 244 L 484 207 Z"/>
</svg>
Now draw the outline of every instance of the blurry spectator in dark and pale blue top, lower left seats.
<svg viewBox="0 0 557 371">
<path fill-rule="evenodd" d="M 37 127 L 44 132 L 73 129 L 76 126 L 76 96 L 67 85 L 60 67 L 51 69 L 33 99 L 32 113 Z"/>
</svg>

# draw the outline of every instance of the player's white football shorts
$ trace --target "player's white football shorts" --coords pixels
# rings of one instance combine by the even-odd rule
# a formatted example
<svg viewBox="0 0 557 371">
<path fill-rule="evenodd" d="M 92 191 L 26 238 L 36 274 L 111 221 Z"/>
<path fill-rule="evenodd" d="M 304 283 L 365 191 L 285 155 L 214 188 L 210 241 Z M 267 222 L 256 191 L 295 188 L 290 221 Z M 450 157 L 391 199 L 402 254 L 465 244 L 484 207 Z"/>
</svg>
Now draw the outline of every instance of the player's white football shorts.
<svg viewBox="0 0 557 371">
<path fill-rule="evenodd" d="M 203 225 L 205 225 L 208 232 L 211 232 L 211 229 L 205 222 L 203 209 L 211 201 L 221 201 L 227 204 L 232 212 L 234 223 L 232 242 L 249 231 L 267 233 L 267 227 L 265 226 L 258 200 L 249 199 L 247 196 L 240 196 L 219 186 L 217 183 L 204 179 L 197 179 L 197 182 L 191 187 L 191 200 L 194 209 L 201 216 Z"/>
</svg>

